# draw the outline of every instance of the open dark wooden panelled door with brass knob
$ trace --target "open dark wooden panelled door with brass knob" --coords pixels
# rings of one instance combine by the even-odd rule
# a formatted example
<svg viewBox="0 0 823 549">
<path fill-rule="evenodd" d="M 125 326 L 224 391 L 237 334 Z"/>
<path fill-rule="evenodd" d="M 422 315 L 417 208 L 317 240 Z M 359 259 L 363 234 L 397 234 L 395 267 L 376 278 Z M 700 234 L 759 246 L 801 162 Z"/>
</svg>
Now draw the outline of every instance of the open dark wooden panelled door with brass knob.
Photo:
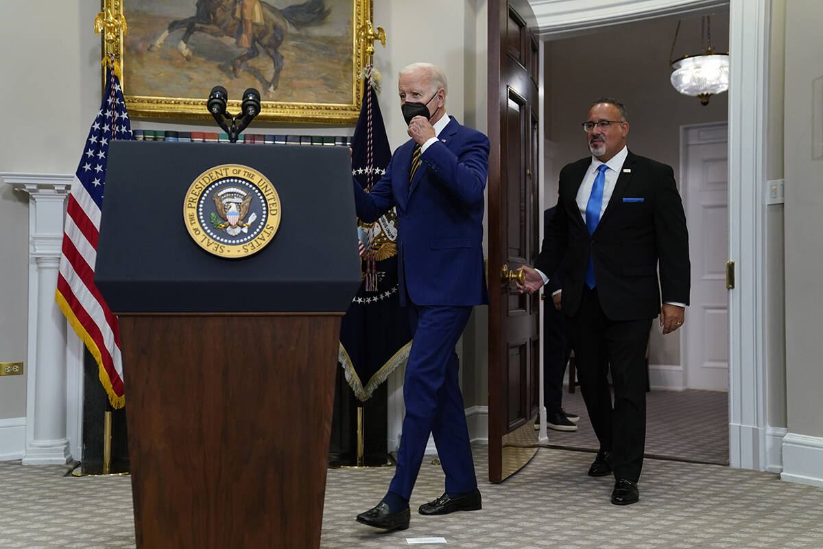
<svg viewBox="0 0 823 549">
<path fill-rule="evenodd" d="M 540 298 L 501 270 L 540 251 L 538 44 L 525 0 L 489 2 L 489 480 L 502 482 L 537 452 Z"/>
</svg>

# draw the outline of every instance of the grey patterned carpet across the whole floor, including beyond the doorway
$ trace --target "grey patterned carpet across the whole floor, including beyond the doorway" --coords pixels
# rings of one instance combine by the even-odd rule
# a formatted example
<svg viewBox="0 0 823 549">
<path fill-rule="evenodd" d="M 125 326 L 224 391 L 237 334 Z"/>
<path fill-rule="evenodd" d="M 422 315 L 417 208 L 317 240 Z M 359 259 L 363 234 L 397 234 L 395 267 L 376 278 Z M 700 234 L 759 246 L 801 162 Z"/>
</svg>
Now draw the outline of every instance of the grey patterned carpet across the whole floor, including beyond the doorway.
<svg viewBox="0 0 823 549">
<path fill-rule="evenodd" d="M 672 398 L 681 394 L 661 394 L 660 398 L 671 404 Z M 693 411 L 667 417 L 653 404 L 658 394 L 649 393 L 649 416 L 654 415 L 659 423 L 653 426 L 649 421 L 649 453 L 683 454 L 691 444 L 700 444 L 699 439 L 707 437 L 710 444 L 705 444 L 705 451 L 714 451 L 714 458 L 725 461 L 726 435 L 690 421 L 692 417 L 702 422 L 717 417 L 725 424 L 725 404 L 714 402 L 720 400 L 716 393 L 690 396 L 700 401 Z M 703 396 L 705 402 L 700 400 Z M 593 434 L 591 427 L 588 434 L 586 431 L 582 400 L 578 402 L 574 395 L 564 397 L 567 410 L 583 412 L 581 430 L 550 431 L 550 442 L 590 445 Z M 725 430 L 723 425 L 721 431 Z M 653 431 L 670 439 L 669 444 L 658 446 L 658 435 Z M 687 437 L 694 440 L 683 440 Z M 486 481 L 487 447 L 476 447 L 474 454 L 483 509 L 442 517 L 417 514 L 417 506 L 443 491 L 442 470 L 426 462 L 412 494 L 411 528 L 402 532 L 383 533 L 354 520 L 357 513 L 384 495 L 393 468 L 329 469 L 320 547 L 410 547 L 416 539 L 429 537 L 443 537 L 446 545 L 428 542 L 412 547 L 823 547 L 823 488 L 781 482 L 772 473 L 647 458 L 639 483 L 639 503 L 617 507 L 609 503 L 611 478 L 586 475 L 592 461 L 588 451 L 539 449 L 531 463 L 500 485 Z M 688 455 L 695 460 L 708 459 L 704 452 Z M 66 473 L 63 466 L 0 463 L 0 547 L 135 547 L 130 478 L 78 478 L 66 477 Z"/>
</svg>

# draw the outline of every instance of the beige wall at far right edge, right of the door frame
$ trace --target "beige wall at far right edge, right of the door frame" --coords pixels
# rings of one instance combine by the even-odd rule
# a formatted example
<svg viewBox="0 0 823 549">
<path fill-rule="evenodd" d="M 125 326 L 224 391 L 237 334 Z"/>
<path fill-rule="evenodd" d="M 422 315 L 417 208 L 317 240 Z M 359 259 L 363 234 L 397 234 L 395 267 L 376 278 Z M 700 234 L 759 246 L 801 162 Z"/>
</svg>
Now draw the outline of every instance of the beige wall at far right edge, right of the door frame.
<svg viewBox="0 0 823 549">
<path fill-rule="evenodd" d="M 786 202 L 786 393 L 788 430 L 823 436 L 823 159 L 812 140 L 823 131 L 813 81 L 823 78 L 823 2 L 786 2 L 784 150 Z M 821 98 L 817 99 L 820 105 Z M 816 130 L 815 130 L 816 128 Z"/>
</svg>

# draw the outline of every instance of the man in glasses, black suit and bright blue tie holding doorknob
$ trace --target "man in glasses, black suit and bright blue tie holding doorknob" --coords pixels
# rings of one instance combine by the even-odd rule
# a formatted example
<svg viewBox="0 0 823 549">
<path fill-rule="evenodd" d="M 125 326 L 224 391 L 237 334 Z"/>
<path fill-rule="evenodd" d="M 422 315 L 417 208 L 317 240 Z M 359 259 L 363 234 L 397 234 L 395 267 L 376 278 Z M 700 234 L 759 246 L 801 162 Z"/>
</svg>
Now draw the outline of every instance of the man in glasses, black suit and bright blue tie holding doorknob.
<svg viewBox="0 0 823 549">
<path fill-rule="evenodd" d="M 523 266 L 526 281 L 518 289 L 539 289 L 547 281 L 543 273 L 555 272 L 565 255 L 562 307 L 600 442 L 588 474 L 614 472 L 611 503 L 629 505 L 639 500 L 651 319 L 659 314 L 664 334 L 683 324 L 689 239 L 671 166 L 625 147 L 629 122 L 621 102 L 595 101 L 583 128 L 592 156 L 560 170 L 557 211 L 535 268 Z"/>
</svg>

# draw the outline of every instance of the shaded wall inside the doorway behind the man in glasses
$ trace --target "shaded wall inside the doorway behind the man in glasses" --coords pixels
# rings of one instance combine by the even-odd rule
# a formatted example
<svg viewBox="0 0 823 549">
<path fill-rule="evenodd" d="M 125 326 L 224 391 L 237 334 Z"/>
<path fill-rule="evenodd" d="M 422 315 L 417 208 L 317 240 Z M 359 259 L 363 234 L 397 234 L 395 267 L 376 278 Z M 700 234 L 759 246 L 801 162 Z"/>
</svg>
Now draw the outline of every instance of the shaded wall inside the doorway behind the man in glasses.
<svg viewBox="0 0 823 549">
<path fill-rule="evenodd" d="M 546 204 L 556 202 L 556 180 L 563 165 L 588 156 L 580 123 L 598 97 L 614 97 L 626 105 L 630 150 L 671 165 L 676 176 L 681 125 L 728 119 L 727 94 L 715 95 L 703 106 L 669 82 L 668 56 L 676 28 L 677 19 L 642 21 L 549 44 L 546 136 L 556 148 L 553 173 L 548 169 L 546 173 L 550 182 Z M 715 50 L 727 51 L 728 12 L 712 16 L 711 30 Z M 696 53 L 700 53 L 700 17 L 682 21 L 674 57 Z M 679 365 L 680 335 L 663 337 L 654 325 L 649 361 Z"/>
</svg>

